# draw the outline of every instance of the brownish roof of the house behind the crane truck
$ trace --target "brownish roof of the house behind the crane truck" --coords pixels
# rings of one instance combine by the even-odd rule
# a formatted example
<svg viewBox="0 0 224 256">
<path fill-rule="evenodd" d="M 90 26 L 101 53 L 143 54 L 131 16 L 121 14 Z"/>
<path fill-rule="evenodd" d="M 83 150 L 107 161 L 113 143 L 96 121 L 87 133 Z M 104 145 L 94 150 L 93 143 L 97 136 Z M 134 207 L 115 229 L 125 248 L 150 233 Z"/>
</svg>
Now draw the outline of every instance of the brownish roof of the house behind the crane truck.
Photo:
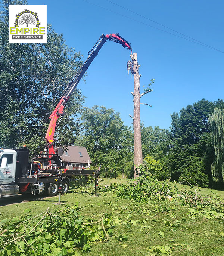
<svg viewBox="0 0 224 256">
<path fill-rule="evenodd" d="M 63 152 L 63 155 L 60 157 L 63 162 L 71 162 L 71 163 L 86 163 L 88 164 L 88 161 L 90 161 L 90 164 L 92 163 L 90 156 L 88 155 L 88 152 L 85 147 L 83 146 L 68 146 L 68 150 L 65 150 Z M 65 154 L 65 152 L 68 152 L 68 155 Z M 80 154 L 82 157 L 80 157 Z"/>
</svg>

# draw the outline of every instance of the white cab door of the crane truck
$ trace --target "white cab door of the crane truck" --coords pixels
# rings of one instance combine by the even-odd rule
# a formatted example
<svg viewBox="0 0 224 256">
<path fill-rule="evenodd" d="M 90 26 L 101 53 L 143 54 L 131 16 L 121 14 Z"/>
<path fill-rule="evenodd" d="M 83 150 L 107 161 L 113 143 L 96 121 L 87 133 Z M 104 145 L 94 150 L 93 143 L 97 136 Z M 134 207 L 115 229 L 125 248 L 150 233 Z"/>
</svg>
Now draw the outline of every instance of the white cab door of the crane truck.
<svg viewBox="0 0 224 256">
<path fill-rule="evenodd" d="M 2 159 L 7 158 L 6 167 L 1 167 Z M 0 158 L 0 185 L 9 184 L 15 180 L 16 153 L 3 153 Z"/>
</svg>

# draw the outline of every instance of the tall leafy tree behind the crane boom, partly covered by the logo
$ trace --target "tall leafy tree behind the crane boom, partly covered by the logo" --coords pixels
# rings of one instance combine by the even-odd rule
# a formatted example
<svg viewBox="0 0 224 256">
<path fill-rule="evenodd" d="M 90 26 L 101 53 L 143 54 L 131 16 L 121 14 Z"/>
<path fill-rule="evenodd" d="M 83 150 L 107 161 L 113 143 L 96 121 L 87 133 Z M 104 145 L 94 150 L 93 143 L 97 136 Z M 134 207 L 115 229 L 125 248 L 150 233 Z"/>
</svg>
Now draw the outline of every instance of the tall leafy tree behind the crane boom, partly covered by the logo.
<svg viewBox="0 0 224 256">
<path fill-rule="evenodd" d="M 47 26 L 47 43 L 8 43 L 8 4 L 3 1 L 0 17 L 0 145 L 23 144 L 31 152 L 44 148 L 49 116 L 67 84 L 81 65 L 82 55 L 65 44 L 62 34 Z M 76 90 L 59 126 L 58 144 L 71 145 L 79 132 L 74 115 L 82 110 L 84 97 Z"/>
</svg>

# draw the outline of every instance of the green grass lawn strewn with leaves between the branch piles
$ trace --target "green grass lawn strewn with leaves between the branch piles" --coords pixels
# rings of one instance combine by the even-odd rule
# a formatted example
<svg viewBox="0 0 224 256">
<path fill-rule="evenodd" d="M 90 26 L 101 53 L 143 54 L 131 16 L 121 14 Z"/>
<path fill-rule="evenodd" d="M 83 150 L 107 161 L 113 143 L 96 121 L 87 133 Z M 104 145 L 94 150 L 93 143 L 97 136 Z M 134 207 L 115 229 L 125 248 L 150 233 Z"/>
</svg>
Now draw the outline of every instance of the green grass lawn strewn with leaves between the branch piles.
<svg viewBox="0 0 224 256">
<path fill-rule="evenodd" d="M 100 184 L 127 182 L 125 179 L 103 179 Z M 179 185 L 180 188 L 183 186 Z M 212 190 L 203 189 L 209 194 Z M 219 195 L 224 196 L 223 191 Z M 34 215 L 60 209 L 63 205 L 55 205 L 57 197 L 28 201 L 0 207 L 0 218 L 13 218 L 22 215 L 25 209 L 31 209 Z M 189 207 L 176 207 L 175 200 L 144 204 L 129 199 L 116 197 L 112 192 L 100 193 L 99 197 L 85 191 L 72 190 L 62 195 L 64 204 L 80 206 L 80 215 L 84 219 L 99 220 L 103 213 L 113 213 L 116 225 L 113 237 L 107 243 L 96 242 L 88 253 L 77 249 L 80 255 L 94 256 L 133 256 L 133 255 L 224 255 L 224 220 L 192 217 Z M 155 210 L 158 209 L 158 210 Z M 127 235 L 127 239 L 119 241 L 115 236 Z M 153 252 L 152 249 L 158 249 Z M 150 250 L 151 248 L 151 250 Z M 162 253 L 165 250 L 166 252 Z M 168 254 L 166 254 L 168 253 Z"/>
</svg>

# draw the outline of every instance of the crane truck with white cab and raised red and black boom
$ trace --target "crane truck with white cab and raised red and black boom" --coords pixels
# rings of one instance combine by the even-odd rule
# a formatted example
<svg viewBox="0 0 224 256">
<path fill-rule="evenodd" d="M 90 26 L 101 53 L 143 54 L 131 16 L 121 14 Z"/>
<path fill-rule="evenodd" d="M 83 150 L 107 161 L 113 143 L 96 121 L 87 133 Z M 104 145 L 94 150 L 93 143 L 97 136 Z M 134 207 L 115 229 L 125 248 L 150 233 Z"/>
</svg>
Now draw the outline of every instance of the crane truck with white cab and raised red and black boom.
<svg viewBox="0 0 224 256">
<path fill-rule="evenodd" d="M 56 147 L 54 134 L 65 115 L 64 108 L 72 92 L 107 40 L 122 44 L 124 48 L 132 50 L 131 44 L 118 33 L 102 34 L 99 37 L 96 44 L 88 52 L 88 58 L 68 84 L 49 117 L 50 124 L 45 136 L 46 150 L 38 154 L 36 159 L 32 158 L 31 163 L 29 163 L 27 147 L 15 150 L 0 149 L 0 198 L 19 193 L 40 195 L 47 192 L 49 196 L 57 195 L 59 190 L 66 193 L 72 175 L 93 174 L 95 170 L 70 170 L 60 166 L 59 157 L 63 154 L 63 148 Z"/>
</svg>

